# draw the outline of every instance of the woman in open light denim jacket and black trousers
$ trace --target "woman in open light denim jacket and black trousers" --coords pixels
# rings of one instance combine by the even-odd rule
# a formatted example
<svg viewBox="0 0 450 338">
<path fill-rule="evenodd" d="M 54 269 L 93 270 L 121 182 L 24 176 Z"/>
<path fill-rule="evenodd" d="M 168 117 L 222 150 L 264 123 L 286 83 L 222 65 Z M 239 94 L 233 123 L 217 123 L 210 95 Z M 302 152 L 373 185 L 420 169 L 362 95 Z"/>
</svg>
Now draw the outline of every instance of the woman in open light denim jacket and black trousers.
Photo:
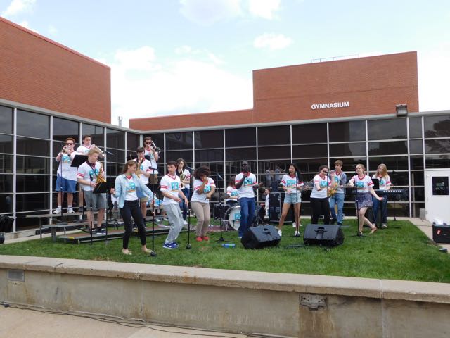
<svg viewBox="0 0 450 338">
<path fill-rule="evenodd" d="M 152 199 L 153 192 L 137 177 L 136 170 L 136 161 L 127 161 L 122 170 L 122 174 L 115 179 L 115 187 L 110 189 L 110 193 L 117 199 L 120 215 L 122 215 L 124 220 L 125 233 L 122 245 L 122 253 L 124 255 L 131 255 L 131 251 L 128 249 L 128 242 L 133 231 L 133 220 L 138 227 L 142 251 L 144 253 L 152 252 L 150 249 L 147 249 L 146 227 L 143 223 L 139 200 L 140 196 L 146 196 L 148 199 Z"/>
</svg>

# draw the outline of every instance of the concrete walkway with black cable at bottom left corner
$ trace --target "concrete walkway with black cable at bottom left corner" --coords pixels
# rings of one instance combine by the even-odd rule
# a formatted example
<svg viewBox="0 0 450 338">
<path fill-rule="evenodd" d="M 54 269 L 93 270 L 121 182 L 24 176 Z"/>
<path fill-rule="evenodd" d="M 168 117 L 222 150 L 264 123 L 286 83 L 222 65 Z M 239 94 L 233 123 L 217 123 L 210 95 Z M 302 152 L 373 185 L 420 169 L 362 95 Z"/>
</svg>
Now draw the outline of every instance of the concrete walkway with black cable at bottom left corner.
<svg viewBox="0 0 450 338">
<path fill-rule="evenodd" d="M 182 329 L 163 325 L 135 327 L 129 323 L 110 323 L 75 315 L 0 306 L 0 338 L 245 338 L 245 334 L 220 333 L 206 330 Z"/>
</svg>

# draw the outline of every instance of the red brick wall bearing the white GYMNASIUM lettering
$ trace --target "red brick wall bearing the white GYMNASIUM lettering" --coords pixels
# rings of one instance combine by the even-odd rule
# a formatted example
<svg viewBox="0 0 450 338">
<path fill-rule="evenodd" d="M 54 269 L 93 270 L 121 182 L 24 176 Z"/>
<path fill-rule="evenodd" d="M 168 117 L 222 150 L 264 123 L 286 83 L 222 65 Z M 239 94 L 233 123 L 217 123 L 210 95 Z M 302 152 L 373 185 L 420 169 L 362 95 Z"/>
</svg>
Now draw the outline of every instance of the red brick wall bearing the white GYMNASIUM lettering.
<svg viewBox="0 0 450 338">
<path fill-rule="evenodd" d="M 141 130 L 270 123 L 395 113 L 396 104 L 419 111 L 416 51 L 308 63 L 253 72 L 253 109 L 131 119 Z M 349 107 L 312 109 L 312 104 Z"/>
</svg>

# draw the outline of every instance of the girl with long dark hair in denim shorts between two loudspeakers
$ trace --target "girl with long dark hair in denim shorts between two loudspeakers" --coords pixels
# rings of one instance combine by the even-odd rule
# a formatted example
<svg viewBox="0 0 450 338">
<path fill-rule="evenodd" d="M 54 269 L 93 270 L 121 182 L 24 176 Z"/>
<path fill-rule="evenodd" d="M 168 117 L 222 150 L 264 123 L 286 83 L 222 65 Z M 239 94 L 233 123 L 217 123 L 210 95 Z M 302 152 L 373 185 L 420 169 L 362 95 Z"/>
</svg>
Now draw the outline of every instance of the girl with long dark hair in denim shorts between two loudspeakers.
<svg viewBox="0 0 450 338">
<path fill-rule="evenodd" d="M 300 232 L 298 231 L 298 227 L 300 226 L 300 206 L 302 204 L 302 192 L 300 189 L 304 186 L 304 182 L 302 180 L 302 174 L 300 170 L 297 168 L 297 165 L 294 163 L 290 163 L 288 174 L 283 175 L 281 177 L 281 186 L 285 191 L 283 208 L 281 209 L 281 216 L 278 222 L 278 234 L 281 236 L 281 229 L 284 225 L 284 220 L 286 215 L 288 215 L 288 211 L 290 205 L 294 206 L 294 224 L 295 224 L 295 232 L 294 236 L 299 237 Z"/>
</svg>

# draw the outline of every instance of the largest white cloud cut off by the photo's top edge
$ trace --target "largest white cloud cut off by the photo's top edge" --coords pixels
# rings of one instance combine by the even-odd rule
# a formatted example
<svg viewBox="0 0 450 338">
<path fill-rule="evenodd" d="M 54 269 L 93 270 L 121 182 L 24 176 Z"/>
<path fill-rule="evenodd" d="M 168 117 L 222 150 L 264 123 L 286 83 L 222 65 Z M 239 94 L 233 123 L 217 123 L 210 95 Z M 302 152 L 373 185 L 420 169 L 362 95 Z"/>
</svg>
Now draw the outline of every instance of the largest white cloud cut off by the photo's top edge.
<svg viewBox="0 0 450 338">
<path fill-rule="evenodd" d="M 200 25 L 212 25 L 243 14 L 240 0 L 180 0 L 180 12 Z"/>
</svg>

